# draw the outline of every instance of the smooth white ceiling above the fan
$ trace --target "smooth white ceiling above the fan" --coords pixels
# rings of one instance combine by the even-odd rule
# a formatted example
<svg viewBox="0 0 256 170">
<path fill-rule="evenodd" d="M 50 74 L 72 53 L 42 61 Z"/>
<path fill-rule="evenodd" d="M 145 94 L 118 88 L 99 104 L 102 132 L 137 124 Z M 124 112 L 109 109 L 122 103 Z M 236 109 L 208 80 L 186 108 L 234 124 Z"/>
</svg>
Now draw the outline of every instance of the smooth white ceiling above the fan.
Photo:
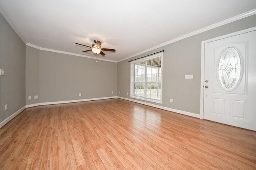
<svg viewBox="0 0 256 170">
<path fill-rule="evenodd" d="M 91 46 L 97 39 L 102 48 L 116 49 L 104 57 L 114 61 L 256 9 L 256 0 L 0 0 L 0 4 L 25 43 L 95 57 L 74 43 Z"/>
</svg>

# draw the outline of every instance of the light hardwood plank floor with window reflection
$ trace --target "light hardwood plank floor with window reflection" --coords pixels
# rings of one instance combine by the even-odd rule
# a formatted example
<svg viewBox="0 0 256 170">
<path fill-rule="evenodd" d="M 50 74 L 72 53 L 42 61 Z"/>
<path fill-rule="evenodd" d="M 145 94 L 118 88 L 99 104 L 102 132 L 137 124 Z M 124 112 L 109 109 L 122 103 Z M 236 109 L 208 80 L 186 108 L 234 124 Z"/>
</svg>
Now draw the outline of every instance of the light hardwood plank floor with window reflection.
<svg viewBox="0 0 256 170">
<path fill-rule="evenodd" d="M 0 170 L 256 169 L 256 132 L 121 99 L 32 107 L 0 129 Z"/>
</svg>

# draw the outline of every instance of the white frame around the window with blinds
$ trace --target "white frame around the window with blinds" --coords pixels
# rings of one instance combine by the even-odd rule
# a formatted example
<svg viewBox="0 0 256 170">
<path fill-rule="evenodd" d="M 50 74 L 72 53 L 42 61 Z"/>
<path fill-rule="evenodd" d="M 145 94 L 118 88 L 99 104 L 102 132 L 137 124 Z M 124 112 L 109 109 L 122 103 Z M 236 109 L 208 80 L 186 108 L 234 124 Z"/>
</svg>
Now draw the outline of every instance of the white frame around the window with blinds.
<svg viewBox="0 0 256 170">
<path fill-rule="evenodd" d="M 160 100 L 157 100 L 157 99 L 150 99 L 150 98 L 146 98 L 146 93 L 144 94 L 144 97 L 142 96 L 135 96 L 134 95 L 134 72 L 133 72 L 133 65 L 135 63 L 140 63 L 140 62 L 143 62 L 143 61 L 147 61 L 147 60 L 150 60 L 150 59 L 155 59 L 157 57 L 161 57 L 161 82 L 160 82 L 160 86 L 161 86 L 161 92 L 160 92 Z M 146 76 L 146 75 L 145 75 Z M 145 77 L 145 81 L 144 83 L 146 83 L 146 77 Z M 152 55 L 150 57 L 146 57 L 146 58 L 142 58 L 142 59 L 138 59 L 138 60 L 135 60 L 135 61 L 131 61 L 130 62 L 130 98 L 135 98 L 135 99 L 139 99 L 139 100 L 145 100 L 145 101 L 148 101 L 148 102 L 154 102 L 154 103 L 159 103 L 159 104 L 162 104 L 162 94 L 163 94 L 163 52 L 162 53 L 158 53 L 158 54 L 155 54 L 155 55 Z"/>
</svg>

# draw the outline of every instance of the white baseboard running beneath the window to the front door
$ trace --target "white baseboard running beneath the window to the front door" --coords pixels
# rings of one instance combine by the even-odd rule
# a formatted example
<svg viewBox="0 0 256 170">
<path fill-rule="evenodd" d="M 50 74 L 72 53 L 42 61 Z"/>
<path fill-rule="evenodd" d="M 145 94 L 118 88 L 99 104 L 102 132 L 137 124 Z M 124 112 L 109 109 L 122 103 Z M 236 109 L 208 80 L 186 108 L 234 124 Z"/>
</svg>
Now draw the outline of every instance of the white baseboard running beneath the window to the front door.
<svg viewBox="0 0 256 170">
<path fill-rule="evenodd" d="M 141 102 L 141 101 L 138 101 L 138 100 L 133 100 L 133 99 L 129 99 L 129 98 L 123 98 L 123 97 L 120 97 L 120 96 L 117 96 L 117 98 L 128 100 L 128 101 L 131 101 L 131 102 L 136 102 L 136 103 L 139 103 L 139 104 L 144 104 L 144 105 L 147 105 L 147 106 L 156 107 L 158 109 L 163 109 L 163 110 L 172 111 L 172 112 L 175 112 L 175 113 L 180 113 L 182 115 L 188 115 L 188 116 L 200 118 L 200 114 L 191 113 L 191 112 L 188 112 L 188 111 L 172 109 L 172 108 L 169 108 L 169 107 L 159 106 L 159 105 L 156 105 L 156 104 L 150 104 L 150 103 Z"/>
</svg>

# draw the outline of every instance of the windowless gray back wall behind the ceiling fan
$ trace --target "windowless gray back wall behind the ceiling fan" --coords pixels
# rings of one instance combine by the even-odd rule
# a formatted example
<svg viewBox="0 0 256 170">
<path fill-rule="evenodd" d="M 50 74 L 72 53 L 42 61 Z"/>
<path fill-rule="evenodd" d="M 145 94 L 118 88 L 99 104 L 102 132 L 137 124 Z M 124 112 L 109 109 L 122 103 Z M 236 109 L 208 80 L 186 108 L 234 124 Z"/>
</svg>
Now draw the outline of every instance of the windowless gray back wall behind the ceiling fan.
<svg viewBox="0 0 256 170">
<path fill-rule="evenodd" d="M 117 96 L 117 63 L 26 49 L 26 104 Z"/>
</svg>

